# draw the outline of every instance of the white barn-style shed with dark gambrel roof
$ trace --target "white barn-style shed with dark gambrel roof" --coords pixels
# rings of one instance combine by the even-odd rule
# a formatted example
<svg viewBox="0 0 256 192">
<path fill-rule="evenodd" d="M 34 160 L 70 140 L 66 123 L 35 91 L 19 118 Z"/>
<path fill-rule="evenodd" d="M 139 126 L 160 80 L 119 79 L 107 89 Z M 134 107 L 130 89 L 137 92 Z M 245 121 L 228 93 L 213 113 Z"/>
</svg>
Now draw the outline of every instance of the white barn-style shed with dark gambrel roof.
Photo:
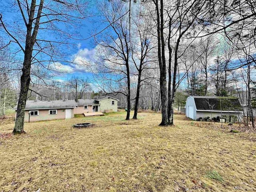
<svg viewBox="0 0 256 192">
<path fill-rule="evenodd" d="M 241 121 L 242 107 L 237 98 L 218 97 L 218 96 L 190 96 L 186 100 L 186 117 L 193 120 L 200 118 L 228 118 Z"/>
</svg>

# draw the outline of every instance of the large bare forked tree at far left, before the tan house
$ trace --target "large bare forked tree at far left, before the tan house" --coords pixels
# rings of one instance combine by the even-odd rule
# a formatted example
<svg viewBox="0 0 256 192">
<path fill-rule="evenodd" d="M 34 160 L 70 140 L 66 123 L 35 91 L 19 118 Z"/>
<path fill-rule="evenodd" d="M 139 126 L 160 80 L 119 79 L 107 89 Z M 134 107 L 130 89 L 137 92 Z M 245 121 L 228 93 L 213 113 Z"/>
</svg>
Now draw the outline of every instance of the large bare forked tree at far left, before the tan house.
<svg viewBox="0 0 256 192">
<path fill-rule="evenodd" d="M 85 18 L 84 1 L 49 1 L 49 0 L 16 0 L 8 3 L 12 11 L 18 12 L 22 21 L 12 23 L 4 20 L 0 13 L 0 26 L 6 34 L 8 44 L 15 43 L 17 52 L 24 56 L 22 76 L 20 78 L 20 96 L 13 133 L 24 133 L 24 111 L 30 86 L 32 64 L 40 64 L 50 69 L 54 62 L 63 62 L 61 46 L 69 46 L 69 39 L 74 37 L 72 28 L 80 25 Z M 62 25 L 60 24 L 62 23 Z"/>
</svg>

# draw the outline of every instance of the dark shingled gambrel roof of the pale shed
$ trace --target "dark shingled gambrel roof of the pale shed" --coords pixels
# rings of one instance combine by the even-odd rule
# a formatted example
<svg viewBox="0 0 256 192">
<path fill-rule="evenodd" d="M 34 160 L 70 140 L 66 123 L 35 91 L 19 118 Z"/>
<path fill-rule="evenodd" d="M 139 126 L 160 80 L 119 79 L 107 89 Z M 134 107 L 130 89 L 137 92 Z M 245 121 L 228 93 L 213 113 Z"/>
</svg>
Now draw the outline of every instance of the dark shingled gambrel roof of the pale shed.
<svg viewBox="0 0 256 192">
<path fill-rule="evenodd" d="M 218 96 L 191 96 L 194 98 L 196 110 L 207 111 L 242 111 L 241 104 L 237 98 Z"/>
</svg>

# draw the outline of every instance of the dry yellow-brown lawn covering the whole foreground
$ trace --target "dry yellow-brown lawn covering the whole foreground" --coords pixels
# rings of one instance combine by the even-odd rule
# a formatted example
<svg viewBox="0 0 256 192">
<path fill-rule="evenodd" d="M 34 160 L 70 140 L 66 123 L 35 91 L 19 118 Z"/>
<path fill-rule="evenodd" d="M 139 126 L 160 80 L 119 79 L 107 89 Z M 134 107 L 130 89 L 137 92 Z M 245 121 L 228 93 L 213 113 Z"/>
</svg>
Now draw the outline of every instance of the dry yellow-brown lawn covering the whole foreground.
<svg viewBox="0 0 256 192">
<path fill-rule="evenodd" d="M 0 138 L 0 191 L 189 192 L 256 191 L 254 133 L 198 126 L 176 115 L 25 123 L 27 134 Z M 73 124 L 91 122 L 91 128 Z M 10 133 L 14 123 L 0 125 Z"/>
</svg>

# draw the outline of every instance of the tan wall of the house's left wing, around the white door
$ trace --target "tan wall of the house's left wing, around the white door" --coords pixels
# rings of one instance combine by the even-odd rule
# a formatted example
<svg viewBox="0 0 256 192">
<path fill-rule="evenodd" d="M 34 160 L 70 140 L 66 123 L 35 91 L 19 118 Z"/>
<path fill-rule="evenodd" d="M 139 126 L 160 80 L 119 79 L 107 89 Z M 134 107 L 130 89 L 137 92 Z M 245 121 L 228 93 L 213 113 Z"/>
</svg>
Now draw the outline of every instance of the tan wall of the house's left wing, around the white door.
<svg viewBox="0 0 256 192">
<path fill-rule="evenodd" d="M 56 114 L 50 114 L 49 110 L 56 110 Z M 71 110 L 71 118 L 74 117 L 74 110 Z M 30 116 L 30 122 L 33 121 L 44 121 L 44 120 L 53 120 L 53 119 L 65 119 L 66 118 L 66 109 L 38 109 L 38 110 L 26 110 L 25 111 L 25 122 L 28 122 L 28 113 L 37 111 L 37 115 Z"/>
</svg>

